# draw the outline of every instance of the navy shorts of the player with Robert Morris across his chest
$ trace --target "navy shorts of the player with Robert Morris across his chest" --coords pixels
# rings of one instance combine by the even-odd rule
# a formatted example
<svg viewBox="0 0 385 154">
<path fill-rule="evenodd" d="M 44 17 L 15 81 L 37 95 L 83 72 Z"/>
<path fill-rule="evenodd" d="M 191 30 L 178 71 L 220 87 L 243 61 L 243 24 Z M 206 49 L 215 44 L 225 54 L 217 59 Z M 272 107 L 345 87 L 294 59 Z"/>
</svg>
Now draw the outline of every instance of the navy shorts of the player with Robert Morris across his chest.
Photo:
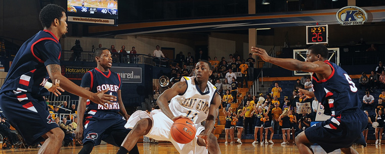
<svg viewBox="0 0 385 154">
<path fill-rule="evenodd" d="M 131 130 L 124 128 L 126 122 L 117 112 L 91 110 L 84 114 L 82 142 L 91 141 L 96 146 L 104 140 L 120 146 Z"/>
</svg>

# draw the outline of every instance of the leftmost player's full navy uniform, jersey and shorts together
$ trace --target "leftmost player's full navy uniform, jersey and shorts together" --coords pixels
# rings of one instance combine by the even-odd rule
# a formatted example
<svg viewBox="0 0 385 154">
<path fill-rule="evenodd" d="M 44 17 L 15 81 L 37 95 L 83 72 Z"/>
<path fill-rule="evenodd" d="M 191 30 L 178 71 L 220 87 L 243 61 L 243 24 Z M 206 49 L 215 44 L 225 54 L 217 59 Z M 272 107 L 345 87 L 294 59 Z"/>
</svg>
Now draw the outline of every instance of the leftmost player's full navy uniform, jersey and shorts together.
<svg viewBox="0 0 385 154">
<path fill-rule="evenodd" d="M 48 31 L 39 31 L 20 47 L 0 91 L 0 106 L 27 144 L 44 140 L 49 130 L 58 127 L 42 96 L 49 75 L 47 65 L 60 65 L 59 39 Z"/>
</svg>

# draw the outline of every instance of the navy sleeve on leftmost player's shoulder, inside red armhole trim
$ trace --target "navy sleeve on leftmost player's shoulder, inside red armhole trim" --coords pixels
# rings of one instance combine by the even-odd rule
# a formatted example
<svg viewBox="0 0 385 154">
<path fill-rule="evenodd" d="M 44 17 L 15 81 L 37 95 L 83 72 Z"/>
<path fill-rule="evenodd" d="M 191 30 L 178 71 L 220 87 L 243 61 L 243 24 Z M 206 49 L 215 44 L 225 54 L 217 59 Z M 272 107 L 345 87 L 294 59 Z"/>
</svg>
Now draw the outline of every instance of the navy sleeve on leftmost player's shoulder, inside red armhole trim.
<svg viewBox="0 0 385 154">
<path fill-rule="evenodd" d="M 33 47 L 33 53 L 41 61 L 44 61 L 45 66 L 51 64 L 60 65 L 60 50 L 60 45 L 52 40 L 43 40 Z"/>
</svg>

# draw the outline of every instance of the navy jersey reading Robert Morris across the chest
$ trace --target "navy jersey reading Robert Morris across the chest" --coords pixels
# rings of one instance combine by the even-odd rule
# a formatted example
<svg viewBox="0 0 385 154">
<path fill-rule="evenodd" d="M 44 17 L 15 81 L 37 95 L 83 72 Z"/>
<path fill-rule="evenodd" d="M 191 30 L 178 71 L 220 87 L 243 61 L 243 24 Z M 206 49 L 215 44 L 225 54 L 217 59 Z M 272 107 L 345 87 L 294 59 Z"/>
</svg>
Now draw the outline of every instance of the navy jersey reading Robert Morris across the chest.
<svg viewBox="0 0 385 154">
<path fill-rule="evenodd" d="M 98 68 L 85 73 L 80 84 L 81 87 L 89 87 L 90 91 L 94 93 L 110 88 L 106 93 L 116 97 L 118 96 L 117 91 L 121 89 L 120 85 L 120 76 L 118 74 L 110 70 L 108 70 L 108 72 L 102 72 Z M 91 100 L 87 100 L 87 111 L 102 110 L 119 112 L 120 107 L 117 100 L 111 102 L 112 104 L 105 104 L 108 107 L 107 109 Z"/>
</svg>

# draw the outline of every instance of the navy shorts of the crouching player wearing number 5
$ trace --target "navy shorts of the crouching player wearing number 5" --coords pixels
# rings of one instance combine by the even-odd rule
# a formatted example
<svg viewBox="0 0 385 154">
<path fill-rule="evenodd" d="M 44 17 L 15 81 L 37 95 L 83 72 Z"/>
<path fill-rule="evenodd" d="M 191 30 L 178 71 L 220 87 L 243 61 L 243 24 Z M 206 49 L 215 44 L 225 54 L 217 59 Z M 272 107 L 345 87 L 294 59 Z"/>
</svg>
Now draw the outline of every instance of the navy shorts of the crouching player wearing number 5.
<svg viewBox="0 0 385 154">
<path fill-rule="evenodd" d="M 329 153 L 348 148 L 355 142 L 366 146 L 361 132 L 367 124 L 368 116 L 361 109 L 348 110 L 305 129 L 305 135 L 310 142 L 319 144 Z"/>
</svg>

